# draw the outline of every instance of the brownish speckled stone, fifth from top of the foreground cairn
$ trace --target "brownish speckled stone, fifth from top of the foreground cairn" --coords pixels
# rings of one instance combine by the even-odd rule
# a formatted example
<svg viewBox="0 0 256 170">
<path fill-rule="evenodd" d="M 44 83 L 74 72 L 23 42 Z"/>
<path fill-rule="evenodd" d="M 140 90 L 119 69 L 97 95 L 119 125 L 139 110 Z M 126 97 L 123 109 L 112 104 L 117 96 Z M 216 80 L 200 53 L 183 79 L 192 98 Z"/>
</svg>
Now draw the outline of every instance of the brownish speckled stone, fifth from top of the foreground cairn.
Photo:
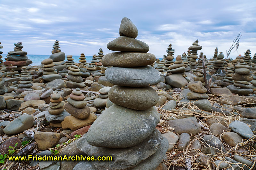
<svg viewBox="0 0 256 170">
<path fill-rule="evenodd" d="M 114 85 L 108 98 L 117 105 L 134 110 L 147 110 L 156 105 L 158 95 L 151 87 L 124 87 Z"/>
</svg>

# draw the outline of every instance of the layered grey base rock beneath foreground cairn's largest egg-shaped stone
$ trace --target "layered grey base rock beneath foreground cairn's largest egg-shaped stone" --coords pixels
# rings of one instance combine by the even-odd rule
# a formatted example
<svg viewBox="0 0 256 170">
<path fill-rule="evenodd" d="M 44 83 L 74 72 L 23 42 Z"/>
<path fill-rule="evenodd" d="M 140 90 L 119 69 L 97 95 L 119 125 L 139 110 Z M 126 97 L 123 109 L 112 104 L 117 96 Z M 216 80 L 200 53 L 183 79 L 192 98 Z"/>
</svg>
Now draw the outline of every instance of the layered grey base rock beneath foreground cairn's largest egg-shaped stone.
<svg viewBox="0 0 256 170">
<path fill-rule="evenodd" d="M 96 168 L 104 170 L 124 170 L 135 167 L 140 162 L 156 153 L 163 140 L 161 133 L 156 129 L 145 140 L 128 148 L 95 147 L 88 144 L 86 138 L 88 139 L 88 132 L 79 139 L 76 145 L 77 148 L 86 155 L 94 157 L 108 155 L 113 157 L 113 161 L 92 162 Z"/>
</svg>

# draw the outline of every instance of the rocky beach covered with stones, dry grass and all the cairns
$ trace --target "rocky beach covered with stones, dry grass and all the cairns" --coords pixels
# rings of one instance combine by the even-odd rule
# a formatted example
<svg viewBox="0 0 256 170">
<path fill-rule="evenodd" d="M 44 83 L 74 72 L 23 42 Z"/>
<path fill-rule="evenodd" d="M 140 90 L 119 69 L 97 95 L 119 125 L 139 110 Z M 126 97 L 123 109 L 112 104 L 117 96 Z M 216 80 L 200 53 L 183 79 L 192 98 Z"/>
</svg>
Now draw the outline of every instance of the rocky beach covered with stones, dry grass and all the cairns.
<svg viewBox="0 0 256 170">
<path fill-rule="evenodd" d="M 196 40 L 187 54 L 170 44 L 156 60 L 130 19 L 119 35 L 107 44 L 115 52 L 100 48 L 90 63 L 84 53 L 74 62 L 58 40 L 40 66 L 21 42 L 0 60 L 1 154 L 113 161 L 5 159 L 1 168 L 255 169 L 256 54 L 225 59 L 216 48 L 207 59 Z"/>
</svg>

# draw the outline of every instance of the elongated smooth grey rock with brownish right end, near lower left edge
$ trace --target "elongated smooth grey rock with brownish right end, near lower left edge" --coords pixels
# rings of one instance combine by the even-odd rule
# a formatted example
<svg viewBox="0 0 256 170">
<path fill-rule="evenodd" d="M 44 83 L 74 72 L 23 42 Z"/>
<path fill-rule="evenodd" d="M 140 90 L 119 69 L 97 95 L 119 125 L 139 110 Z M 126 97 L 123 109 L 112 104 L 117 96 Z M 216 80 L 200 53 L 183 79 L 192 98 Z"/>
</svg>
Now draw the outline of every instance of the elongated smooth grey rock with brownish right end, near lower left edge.
<svg viewBox="0 0 256 170">
<path fill-rule="evenodd" d="M 7 135 L 21 133 L 31 128 L 33 124 L 34 124 L 33 116 L 24 113 L 22 116 L 17 117 L 12 122 L 7 124 L 7 126 L 4 128 L 4 133 Z"/>
</svg>

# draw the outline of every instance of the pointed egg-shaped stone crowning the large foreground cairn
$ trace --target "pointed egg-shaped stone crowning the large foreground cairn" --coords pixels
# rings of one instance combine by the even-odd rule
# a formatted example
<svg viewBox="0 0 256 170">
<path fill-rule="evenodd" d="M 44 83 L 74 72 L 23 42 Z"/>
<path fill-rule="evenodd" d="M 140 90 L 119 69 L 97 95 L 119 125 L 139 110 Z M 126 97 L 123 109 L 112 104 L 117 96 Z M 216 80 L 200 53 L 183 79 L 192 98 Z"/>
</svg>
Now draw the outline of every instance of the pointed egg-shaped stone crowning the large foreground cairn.
<svg viewBox="0 0 256 170">
<path fill-rule="evenodd" d="M 138 36 L 138 29 L 129 18 L 124 17 L 119 27 L 119 35 L 135 39 Z"/>
</svg>

